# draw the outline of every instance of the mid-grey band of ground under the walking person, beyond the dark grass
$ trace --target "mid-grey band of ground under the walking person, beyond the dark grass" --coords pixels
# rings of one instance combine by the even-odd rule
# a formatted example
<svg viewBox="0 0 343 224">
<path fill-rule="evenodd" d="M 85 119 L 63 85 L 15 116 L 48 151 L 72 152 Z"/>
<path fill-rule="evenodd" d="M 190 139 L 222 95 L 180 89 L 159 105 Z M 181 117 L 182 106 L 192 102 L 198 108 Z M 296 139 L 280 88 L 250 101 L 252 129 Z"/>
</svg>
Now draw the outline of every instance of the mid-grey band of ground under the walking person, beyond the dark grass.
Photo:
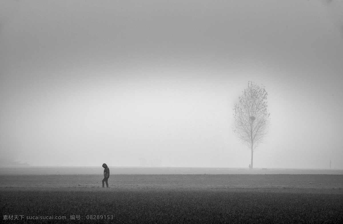
<svg viewBox="0 0 343 224">
<path fill-rule="evenodd" d="M 0 188 L 98 188 L 102 175 L 0 175 Z M 112 188 L 343 189 L 342 175 L 111 175 Z"/>
</svg>

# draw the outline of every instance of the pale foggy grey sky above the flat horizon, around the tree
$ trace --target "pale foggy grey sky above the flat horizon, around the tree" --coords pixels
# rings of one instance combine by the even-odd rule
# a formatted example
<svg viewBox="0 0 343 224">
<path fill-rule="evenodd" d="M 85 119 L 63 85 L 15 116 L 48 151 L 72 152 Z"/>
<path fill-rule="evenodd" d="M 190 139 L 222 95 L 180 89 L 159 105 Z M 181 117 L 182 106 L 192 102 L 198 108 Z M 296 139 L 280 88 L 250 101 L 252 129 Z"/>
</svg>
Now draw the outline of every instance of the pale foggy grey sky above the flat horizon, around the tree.
<svg viewBox="0 0 343 224">
<path fill-rule="evenodd" d="M 248 81 L 271 126 L 254 167 L 343 168 L 343 1 L 0 1 L 0 160 L 248 167 Z"/>
</svg>

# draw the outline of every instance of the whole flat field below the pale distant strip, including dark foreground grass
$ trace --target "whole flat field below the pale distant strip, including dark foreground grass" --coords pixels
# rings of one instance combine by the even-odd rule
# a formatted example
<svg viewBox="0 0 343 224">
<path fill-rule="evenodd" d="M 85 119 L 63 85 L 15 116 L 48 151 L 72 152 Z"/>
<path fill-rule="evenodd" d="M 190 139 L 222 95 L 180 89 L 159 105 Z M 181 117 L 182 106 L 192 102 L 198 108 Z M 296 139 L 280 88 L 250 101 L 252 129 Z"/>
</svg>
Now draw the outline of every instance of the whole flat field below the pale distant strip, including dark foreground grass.
<svg viewBox="0 0 343 224">
<path fill-rule="evenodd" d="M 343 223 L 342 175 L 117 174 L 109 188 L 102 178 L 0 175 L 1 221 Z"/>
</svg>

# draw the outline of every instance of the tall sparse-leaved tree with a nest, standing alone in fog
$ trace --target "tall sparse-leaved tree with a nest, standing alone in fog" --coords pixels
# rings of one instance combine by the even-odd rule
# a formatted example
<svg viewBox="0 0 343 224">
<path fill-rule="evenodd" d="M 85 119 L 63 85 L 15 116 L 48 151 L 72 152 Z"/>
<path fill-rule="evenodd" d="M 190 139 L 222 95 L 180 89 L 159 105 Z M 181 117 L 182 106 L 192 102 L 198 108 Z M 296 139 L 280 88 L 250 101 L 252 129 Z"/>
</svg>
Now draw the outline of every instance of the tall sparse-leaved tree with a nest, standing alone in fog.
<svg viewBox="0 0 343 224">
<path fill-rule="evenodd" d="M 248 82 L 248 88 L 239 96 L 239 103 L 234 105 L 233 132 L 242 143 L 251 150 L 251 169 L 253 152 L 268 132 L 270 113 L 267 110 L 267 91 L 263 85 Z"/>
</svg>

